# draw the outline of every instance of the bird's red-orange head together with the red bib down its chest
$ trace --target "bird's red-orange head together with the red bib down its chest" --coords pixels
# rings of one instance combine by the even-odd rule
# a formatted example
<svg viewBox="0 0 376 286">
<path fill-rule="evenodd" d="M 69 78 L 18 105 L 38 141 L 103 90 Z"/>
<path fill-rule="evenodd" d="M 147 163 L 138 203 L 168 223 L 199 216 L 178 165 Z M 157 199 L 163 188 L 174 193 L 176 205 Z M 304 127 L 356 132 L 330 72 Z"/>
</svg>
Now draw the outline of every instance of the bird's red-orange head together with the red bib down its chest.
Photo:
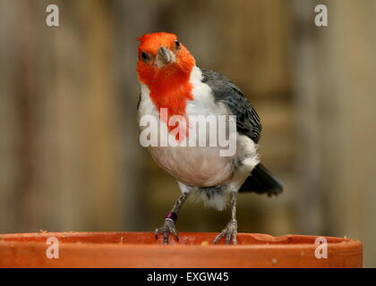
<svg viewBox="0 0 376 286">
<path fill-rule="evenodd" d="M 172 115 L 185 116 L 186 101 L 193 99 L 190 83 L 195 66 L 193 56 L 174 34 L 147 34 L 138 40 L 137 71 L 141 83 L 150 90 L 151 101 L 158 112 L 167 108 L 167 122 Z M 168 126 L 169 130 L 174 128 Z M 187 130 L 187 126 L 179 125 L 179 128 Z"/>
</svg>

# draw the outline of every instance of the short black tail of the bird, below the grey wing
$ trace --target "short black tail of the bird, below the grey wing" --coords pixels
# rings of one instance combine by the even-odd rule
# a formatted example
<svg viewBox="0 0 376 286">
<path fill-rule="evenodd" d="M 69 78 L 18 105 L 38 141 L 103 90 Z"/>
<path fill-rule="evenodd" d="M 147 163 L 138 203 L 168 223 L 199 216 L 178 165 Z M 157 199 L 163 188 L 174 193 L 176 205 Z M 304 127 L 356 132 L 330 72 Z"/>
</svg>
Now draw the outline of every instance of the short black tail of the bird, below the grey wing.
<svg viewBox="0 0 376 286">
<path fill-rule="evenodd" d="M 277 196 L 283 190 L 282 183 L 274 177 L 263 164 L 257 164 L 251 175 L 244 181 L 239 192 L 255 192 L 258 194 L 268 194 Z"/>
</svg>

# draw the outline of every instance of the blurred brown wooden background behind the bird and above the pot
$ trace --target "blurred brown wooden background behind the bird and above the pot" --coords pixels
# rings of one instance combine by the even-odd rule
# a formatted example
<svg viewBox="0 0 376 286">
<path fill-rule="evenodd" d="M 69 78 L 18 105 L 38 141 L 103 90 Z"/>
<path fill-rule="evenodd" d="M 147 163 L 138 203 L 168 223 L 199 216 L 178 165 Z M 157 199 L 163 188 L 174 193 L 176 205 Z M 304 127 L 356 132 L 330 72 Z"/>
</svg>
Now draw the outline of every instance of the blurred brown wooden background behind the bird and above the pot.
<svg viewBox="0 0 376 286">
<path fill-rule="evenodd" d="M 151 231 L 179 192 L 139 146 L 137 37 L 175 32 L 261 115 L 278 198 L 239 196 L 239 231 L 363 240 L 376 266 L 376 2 L 0 1 L 0 232 Z M 47 4 L 60 8 L 48 28 Z M 228 212 L 188 203 L 180 231 Z"/>
</svg>

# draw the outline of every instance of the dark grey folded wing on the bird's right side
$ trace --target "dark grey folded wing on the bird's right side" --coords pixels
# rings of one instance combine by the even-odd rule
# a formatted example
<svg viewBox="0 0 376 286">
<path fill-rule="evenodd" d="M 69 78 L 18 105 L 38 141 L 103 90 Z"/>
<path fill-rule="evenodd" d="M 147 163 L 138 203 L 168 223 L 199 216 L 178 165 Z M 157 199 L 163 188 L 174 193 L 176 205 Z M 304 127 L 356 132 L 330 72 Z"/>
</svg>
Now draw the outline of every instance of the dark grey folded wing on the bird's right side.
<svg viewBox="0 0 376 286">
<path fill-rule="evenodd" d="M 214 99 L 228 106 L 236 115 L 236 129 L 251 138 L 255 143 L 261 136 L 261 120 L 240 88 L 218 72 L 201 69 L 202 82 L 212 89 Z"/>
</svg>

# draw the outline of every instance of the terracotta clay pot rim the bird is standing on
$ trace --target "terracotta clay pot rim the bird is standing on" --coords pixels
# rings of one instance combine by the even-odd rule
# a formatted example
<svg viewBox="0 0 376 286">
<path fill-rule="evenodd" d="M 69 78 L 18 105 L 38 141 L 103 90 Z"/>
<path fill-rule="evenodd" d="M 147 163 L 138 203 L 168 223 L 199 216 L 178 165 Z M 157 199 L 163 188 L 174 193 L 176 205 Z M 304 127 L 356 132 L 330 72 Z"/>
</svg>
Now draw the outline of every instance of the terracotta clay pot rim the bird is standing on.
<svg viewBox="0 0 376 286">
<path fill-rule="evenodd" d="M 318 259 L 314 236 L 239 233 L 238 245 L 226 246 L 212 245 L 215 235 L 183 232 L 179 242 L 170 238 L 165 246 L 150 232 L 4 234 L 0 267 L 362 267 L 363 263 L 359 240 L 326 237 L 328 258 Z M 59 258 L 47 258 L 49 237 L 58 241 Z"/>
</svg>

